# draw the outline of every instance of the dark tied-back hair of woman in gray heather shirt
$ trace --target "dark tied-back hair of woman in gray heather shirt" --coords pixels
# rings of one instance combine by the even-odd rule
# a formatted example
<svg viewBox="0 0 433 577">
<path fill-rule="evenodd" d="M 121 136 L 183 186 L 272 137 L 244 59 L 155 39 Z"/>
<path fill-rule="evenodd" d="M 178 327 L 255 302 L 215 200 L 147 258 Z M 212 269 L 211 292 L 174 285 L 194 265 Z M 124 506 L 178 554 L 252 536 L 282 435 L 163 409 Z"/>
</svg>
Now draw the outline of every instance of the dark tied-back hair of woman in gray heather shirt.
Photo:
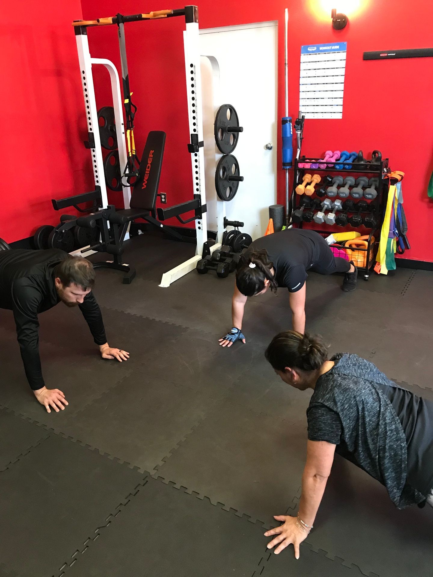
<svg viewBox="0 0 433 577">
<path fill-rule="evenodd" d="M 291 369 L 317 370 L 327 360 L 326 347 L 318 336 L 310 336 L 308 332 L 280 332 L 271 340 L 264 353 L 266 360 L 275 370 Z"/>
</svg>

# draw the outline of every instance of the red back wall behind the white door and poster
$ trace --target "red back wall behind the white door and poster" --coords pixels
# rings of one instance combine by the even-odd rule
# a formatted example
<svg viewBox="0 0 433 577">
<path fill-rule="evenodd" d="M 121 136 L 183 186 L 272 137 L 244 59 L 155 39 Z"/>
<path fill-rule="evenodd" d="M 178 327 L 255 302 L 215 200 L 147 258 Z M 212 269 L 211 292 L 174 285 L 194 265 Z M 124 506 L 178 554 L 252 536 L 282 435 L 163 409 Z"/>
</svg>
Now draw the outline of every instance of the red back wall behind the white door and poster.
<svg viewBox="0 0 433 577">
<path fill-rule="evenodd" d="M 279 21 L 279 110 L 284 104 L 284 8 L 289 8 L 289 113 L 296 118 L 299 100 L 301 44 L 346 40 L 345 94 L 342 120 L 305 121 L 303 152 L 320 155 L 326 149 L 363 149 L 364 154 L 380 149 L 390 166 L 406 173 L 403 190 L 412 249 L 405 257 L 433 261 L 430 222 L 433 203 L 427 198 L 427 183 L 433 170 L 433 61 L 431 58 L 394 61 L 363 61 L 368 50 L 433 46 L 433 3 L 415 0 L 388 2 L 347 0 L 349 24 L 333 31 L 327 0 L 304 2 L 236 3 L 199 0 L 201 28 Z M 334 2 L 335 5 L 338 4 Z M 82 0 L 83 17 L 140 12 L 137 0 Z M 357 7 L 357 8 L 356 8 Z M 159 9 L 161 6 L 153 6 Z M 179 6 L 173 6 L 179 8 Z M 355 8 L 355 9 L 354 9 Z M 134 100 L 139 106 L 136 122 L 137 148 L 141 152 L 151 129 L 167 132 L 161 190 L 169 204 L 191 198 L 191 164 L 186 151 L 185 74 L 180 18 L 126 27 L 129 73 Z M 95 55 L 118 62 L 115 30 L 93 29 L 89 33 Z M 257 81 L 259 80 L 257 71 Z M 108 91 L 101 91 L 102 98 Z M 260 121 L 260 114 L 257 114 Z M 283 201 L 283 171 L 278 175 L 278 196 Z"/>
</svg>

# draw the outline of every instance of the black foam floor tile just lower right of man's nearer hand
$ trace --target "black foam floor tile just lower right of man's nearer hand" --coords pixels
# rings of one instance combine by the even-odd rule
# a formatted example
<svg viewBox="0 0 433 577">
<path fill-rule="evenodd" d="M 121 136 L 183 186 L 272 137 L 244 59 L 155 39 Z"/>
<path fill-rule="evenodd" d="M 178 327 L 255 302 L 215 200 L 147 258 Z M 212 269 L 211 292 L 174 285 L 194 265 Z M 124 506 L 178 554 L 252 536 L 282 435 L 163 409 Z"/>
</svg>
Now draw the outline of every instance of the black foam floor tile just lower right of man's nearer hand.
<svg viewBox="0 0 433 577">
<path fill-rule="evenodd" d="M 162 464 L 215 406 L 204 392 L 134 372 L 61 430 L 142 470 Z"/>
</svg>

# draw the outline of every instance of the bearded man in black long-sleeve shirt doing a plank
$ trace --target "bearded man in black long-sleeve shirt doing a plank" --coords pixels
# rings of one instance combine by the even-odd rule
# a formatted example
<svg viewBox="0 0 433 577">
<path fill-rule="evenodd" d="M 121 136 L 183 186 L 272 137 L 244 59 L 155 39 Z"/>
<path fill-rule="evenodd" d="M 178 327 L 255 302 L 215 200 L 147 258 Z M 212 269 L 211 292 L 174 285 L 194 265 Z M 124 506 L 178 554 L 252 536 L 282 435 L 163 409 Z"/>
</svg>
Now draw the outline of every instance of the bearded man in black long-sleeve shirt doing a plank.
<svg viewBox="0 0 433 577">
<path fill-rule="evenodd" d="M 81 257 L 63 250 L 1 250 L 0 308 L 13 311 L 25 374 L 36 399 L 48 413 L 64 409 L 68 402 L 59 389 L 47 389 L 39 358 L 38 313 L 60 301 L 79 306 L 103 358 L 126 361 L 129 353 L 111 349 L 105 336 L 102 314 L 92 287 L 95 271 Z"/>
</svg>

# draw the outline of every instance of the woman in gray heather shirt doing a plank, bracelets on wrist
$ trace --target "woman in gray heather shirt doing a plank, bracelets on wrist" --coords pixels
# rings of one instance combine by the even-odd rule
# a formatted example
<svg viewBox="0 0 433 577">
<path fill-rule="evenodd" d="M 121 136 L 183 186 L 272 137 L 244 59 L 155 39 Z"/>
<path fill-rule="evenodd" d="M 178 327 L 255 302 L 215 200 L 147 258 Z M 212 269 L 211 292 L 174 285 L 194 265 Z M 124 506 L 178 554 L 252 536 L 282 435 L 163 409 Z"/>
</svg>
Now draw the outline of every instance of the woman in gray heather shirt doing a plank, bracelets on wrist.
<svg viewBox="0 0 433 577">
<path fill-rule="evenodd" d="M 433 507 L 433 444 L 425 435 L 433 422 L 433 402 L 398 387 L 357 355 L 337 354 L 328 360 L 326 347 L 307 333 L 278 334 L 266 358 L 285 383 L 314 391 L 307 409 L 307 461 L 298 514 L 275 516 L 283 524 L 265 533 L 276 535 L 268 548 L 278 545 L 279 553 L 292 543 L 299 558 L 335 452 L 385 485 L 397 508 L 423 506 L 426 500 Z"/>
</svg>

